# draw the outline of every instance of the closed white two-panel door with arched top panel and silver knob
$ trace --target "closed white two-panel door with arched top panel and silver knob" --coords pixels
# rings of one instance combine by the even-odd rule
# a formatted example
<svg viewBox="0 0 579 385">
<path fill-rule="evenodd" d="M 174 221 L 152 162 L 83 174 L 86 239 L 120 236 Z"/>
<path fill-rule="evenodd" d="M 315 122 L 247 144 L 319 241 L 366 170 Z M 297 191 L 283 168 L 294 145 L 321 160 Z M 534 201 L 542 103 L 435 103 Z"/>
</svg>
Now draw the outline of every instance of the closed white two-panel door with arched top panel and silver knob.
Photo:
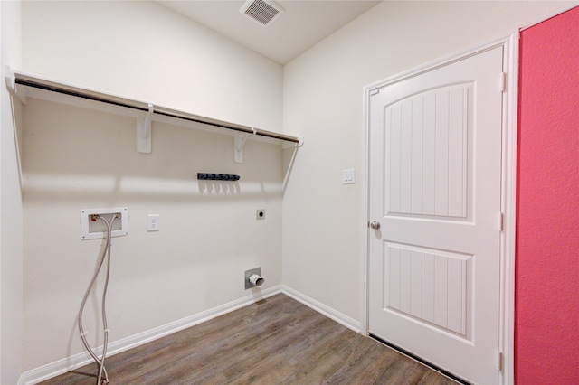
<svg viewBox="0 0 579 385">
<path fill-rule="evenodd" d="M 369 103 L 371 334 L 498 383 L 503 47 Z"/>
</svg>

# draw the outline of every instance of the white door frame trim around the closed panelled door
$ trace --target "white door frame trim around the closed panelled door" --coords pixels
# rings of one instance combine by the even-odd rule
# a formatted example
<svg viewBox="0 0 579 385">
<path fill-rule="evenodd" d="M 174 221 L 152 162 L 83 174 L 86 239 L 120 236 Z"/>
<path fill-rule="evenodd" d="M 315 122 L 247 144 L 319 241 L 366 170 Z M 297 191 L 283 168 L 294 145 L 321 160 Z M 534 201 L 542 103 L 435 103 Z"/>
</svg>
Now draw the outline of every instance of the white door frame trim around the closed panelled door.
<svg viewBox="0 0 579 385">
<path fill-rule="evenodd" d="M 435 61 L 430 61 L 411 70 L 379 80 L 364 87 L 365 114 L 365 258 L 364 258 L 364 309 L 362 313 L 361 333 L 368 335 L 368 298 L 369 298 L 369 139 L 370 139 L 370 97 L 375 89 L 381 89 L 399 81 L 434 70 L 441 66 L 460 61 L 496 47 L 503 47 L 503 70 L 507 73 L 504 80 L 503 98 L 503 131 L 501 148 L 501 212 L 503 213 L 502 231 L 500 233 L 500 277 L 499 277 L 499 341 L 497 365 L 501 368 L 500 383 L 515 382 L 515 230 L 517 214 L 517 101 L 518 101 L 518 30 L 501 35 L 487 42 L 482 42 L 459 52 Z M 500 82 L 501 80 L 497 80 Z"/>
</svg>

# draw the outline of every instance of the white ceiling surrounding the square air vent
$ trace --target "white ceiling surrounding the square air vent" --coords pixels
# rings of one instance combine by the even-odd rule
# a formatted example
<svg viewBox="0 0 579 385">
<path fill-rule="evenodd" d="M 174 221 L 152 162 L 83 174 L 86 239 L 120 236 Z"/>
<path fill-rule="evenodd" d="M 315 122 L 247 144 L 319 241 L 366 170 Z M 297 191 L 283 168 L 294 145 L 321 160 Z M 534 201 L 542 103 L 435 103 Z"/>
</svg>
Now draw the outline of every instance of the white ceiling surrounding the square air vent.
<svg viewBox="0 0 579 385">
<path fill-rule="evenodd" d="M 285 11 L 267 26 L 240 12 L 244 0 L 158 0 L 158 3 L 285 64 L 380 1 L 278 0 L 276 3 Z"/>
</svg>

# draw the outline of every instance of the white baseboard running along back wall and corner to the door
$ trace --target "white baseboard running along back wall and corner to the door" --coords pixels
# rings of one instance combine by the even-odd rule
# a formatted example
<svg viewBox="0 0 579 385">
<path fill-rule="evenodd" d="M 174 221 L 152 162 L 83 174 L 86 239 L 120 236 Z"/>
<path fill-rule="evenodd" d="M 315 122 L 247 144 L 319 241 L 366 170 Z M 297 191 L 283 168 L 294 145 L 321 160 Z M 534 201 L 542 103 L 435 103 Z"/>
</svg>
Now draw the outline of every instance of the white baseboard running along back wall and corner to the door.
<svg viewBox="0 0 579 385">
<path fill-rule="evenodd" d="M 326 315 L 327 317 L 333 319 L 337 323 L 343 324 L 347 328 L 352 329 L 357 333 L 360 333 L 361 324 L 359 321 L 356 321 L 355 319 L 350 318 L 347 315 L 343 315 L 337 312 L 335 309 L 332 309 L 331 307 L 324 305 L 313 298 L 305 296 L 288 286 L 278 285 L 261 291 L 256 291 L 255 293 L 252 294 L 252 296 L 244 296 L 228 304 L 220 305 L 214 307 L 213 309 L 201 312 L 199 314 L 191 315 L 183 319 L 177 320 L 175 322 L 164 324 L 154 329 L 147 330 L 147 332 L 131 335 L 130 337 L 123 338 L 122 340 L 109 343 L 109 347 L 107 348 L 107 357 L 115 355 L 119 352 L 128 351 L 128 349 L 135 348 L 145 343 L 150 343 L 151 341 L 155 341 L 168 334 L 176 333 L 180 330 L 194 326 L 195 324 L 204 323 L 205 321 L 209 321 L 210 319 L 218 317 L 219 315 L 224 315 L 229 312 L 233 312 L 233 310 L 237 310 L 244 306 L 251 305 L 261 299 L 267 298 L 269 296 L 275 296 L 276 294 L 280 293 L 283 293 L 286 296 L 290 296 L 291 298 L 299 301 L 300 303 L 316 310 L 318 313 Z M 102 353 L 102 347 L 96 349 L 96 352 L 97 355 L 100 356 L 100 354 Z M 75 369 L 81 368 L 81 366 L 84 366 L 90 362 L 93 361 L 88 352 L 81 352 L 78 354 L 74 354 L 70 357 L 63 358 L 62 360 L 48 363 L 39 368 L 33 369 L 32 371 L 25 371 L 20 376 L 18 384 L 19 385 L 36 384 L 43 380 L 52 379 L 53 377 L 66 373 L 67 371 L 73 371 Z"/>
</svg>

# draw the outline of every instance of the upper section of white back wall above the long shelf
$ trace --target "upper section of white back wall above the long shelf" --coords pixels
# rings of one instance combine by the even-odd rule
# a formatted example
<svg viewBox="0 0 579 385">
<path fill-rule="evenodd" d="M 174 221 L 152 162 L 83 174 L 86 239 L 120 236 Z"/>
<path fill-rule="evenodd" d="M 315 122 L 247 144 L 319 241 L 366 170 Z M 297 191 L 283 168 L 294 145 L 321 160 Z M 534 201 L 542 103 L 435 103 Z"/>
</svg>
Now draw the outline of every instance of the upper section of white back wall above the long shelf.
<svg viewBox="0 0 579 385">
<path fill-rule="evenodd" d="M 280 130 L 274 61 L 151 1 L 25 1 L 22 70 Z"/>
</svg>

